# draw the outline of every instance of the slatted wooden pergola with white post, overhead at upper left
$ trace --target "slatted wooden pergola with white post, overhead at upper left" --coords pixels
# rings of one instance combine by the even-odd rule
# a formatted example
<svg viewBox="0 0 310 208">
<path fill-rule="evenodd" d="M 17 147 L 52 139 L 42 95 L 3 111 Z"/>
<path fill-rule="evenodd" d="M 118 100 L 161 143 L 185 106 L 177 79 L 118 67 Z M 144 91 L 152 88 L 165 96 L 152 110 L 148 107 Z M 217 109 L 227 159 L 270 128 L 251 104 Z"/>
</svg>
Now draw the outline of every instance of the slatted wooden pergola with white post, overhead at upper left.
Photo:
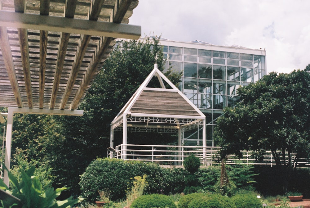
<svg viewBox="0 0 310 208">
<path fill-rule="evenodd" d="M 9 107 L 8 168 L 13 113 L 83 115 L 76 109 L 115 38 L 141 36 L 140 26 L 128 25 L 137 5 L 138 0 L 0 0 L 0 106 Z"/>
</svg>

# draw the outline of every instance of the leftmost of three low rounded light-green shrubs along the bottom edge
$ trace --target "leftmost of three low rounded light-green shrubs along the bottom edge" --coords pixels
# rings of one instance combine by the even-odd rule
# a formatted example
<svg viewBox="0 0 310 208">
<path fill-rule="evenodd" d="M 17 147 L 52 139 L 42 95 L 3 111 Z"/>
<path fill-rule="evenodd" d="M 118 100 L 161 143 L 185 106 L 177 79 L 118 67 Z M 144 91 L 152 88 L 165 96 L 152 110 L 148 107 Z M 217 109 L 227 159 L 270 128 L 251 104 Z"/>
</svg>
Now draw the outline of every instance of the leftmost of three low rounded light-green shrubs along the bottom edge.
<svg viewBox="0 0 310 208">
<path fill-rule="evenodd" d="M 150 194 L 137 198 L 130 208 L 176 208 L 172 198 L 163 194 Z"/>
</svg>

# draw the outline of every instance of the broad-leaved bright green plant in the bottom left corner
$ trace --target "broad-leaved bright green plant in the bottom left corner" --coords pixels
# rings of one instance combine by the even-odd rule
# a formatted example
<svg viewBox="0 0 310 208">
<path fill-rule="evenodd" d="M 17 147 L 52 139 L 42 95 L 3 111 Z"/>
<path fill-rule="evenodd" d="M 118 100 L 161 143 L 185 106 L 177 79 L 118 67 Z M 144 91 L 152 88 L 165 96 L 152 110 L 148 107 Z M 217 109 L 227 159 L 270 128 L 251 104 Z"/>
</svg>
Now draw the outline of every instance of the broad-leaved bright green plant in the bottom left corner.
<svg viewBox="0 0 310 208">
<path fill-rule="evenodd" d="M 7 170 L 7 168 L 5 168 Z M 34 166 L 29 168 L 26 172 L 21 170 L 22 181 L 19 183 L 17 179 L 8 172 L 10 182 L 12 184 L 13 190 L 10 191 L 9 188 L 0 180 L 0 188 L 6 192 L 12 194 L 13 196 L 20 199 L 20 201 L 12 200 L 9 198 L 7 200 L 1 200 L 1 207 L 23 207 L 23 208 L 65 208 L 71 207 L 74 204 L 81 202 L 82 198 L 73 199 L 69 197 L 63 201 L 56 201 L 55 198 L 60 196 L 60 192 L 68 188 L 47 188 L 42 189 L 42 183 L 37 176 L 33 176 L 35 171 Z"/>
</svg>

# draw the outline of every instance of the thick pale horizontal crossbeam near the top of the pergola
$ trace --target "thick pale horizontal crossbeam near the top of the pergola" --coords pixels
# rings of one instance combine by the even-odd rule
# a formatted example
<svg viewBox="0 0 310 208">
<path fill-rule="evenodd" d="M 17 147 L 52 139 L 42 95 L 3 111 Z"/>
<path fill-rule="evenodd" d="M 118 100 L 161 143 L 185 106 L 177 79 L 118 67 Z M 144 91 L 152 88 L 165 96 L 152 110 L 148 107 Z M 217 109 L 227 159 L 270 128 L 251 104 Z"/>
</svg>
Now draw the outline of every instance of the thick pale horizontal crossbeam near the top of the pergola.
<svg viewBox="0 0 310 208">
<path fill-rule="evenodd" d="M 0 11 L 0 26 L 114 38 L 139 39 L 141 26 Z"/>
</svg>

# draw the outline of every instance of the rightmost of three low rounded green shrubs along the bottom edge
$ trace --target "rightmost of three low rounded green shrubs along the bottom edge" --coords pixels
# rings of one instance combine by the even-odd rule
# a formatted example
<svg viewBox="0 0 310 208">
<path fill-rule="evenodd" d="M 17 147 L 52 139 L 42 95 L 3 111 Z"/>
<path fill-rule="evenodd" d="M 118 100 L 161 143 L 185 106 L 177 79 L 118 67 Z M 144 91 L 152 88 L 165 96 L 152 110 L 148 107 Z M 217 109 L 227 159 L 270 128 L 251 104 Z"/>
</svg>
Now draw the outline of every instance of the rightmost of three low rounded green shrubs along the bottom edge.
<svg viewBox="0 0 310 208">
<path fill-rule="evenodd" d="M 262 203 L 256 195 L 238 194 L 232 197 L 232 201 L 237 208 L 261 208 Z"/>
</svg>

